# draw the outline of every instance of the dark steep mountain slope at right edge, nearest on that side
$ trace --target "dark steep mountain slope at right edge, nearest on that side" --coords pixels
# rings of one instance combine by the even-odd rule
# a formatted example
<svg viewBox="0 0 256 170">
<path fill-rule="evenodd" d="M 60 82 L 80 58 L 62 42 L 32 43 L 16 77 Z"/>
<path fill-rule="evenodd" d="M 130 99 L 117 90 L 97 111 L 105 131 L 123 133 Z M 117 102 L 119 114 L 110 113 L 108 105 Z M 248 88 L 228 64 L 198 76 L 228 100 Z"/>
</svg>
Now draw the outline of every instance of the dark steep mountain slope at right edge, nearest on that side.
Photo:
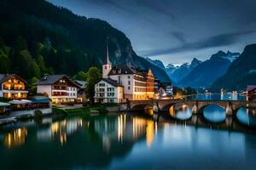
<svg viewBox="0 0 256 170">
<path fill-rule="evenodd" d="M 229 90 L 245 89 L 256 84 L 256 44 L 247 45 L 241 55 L 234 60 L 223 77 L 212 84 L 212 88 Z"/>
</svg>

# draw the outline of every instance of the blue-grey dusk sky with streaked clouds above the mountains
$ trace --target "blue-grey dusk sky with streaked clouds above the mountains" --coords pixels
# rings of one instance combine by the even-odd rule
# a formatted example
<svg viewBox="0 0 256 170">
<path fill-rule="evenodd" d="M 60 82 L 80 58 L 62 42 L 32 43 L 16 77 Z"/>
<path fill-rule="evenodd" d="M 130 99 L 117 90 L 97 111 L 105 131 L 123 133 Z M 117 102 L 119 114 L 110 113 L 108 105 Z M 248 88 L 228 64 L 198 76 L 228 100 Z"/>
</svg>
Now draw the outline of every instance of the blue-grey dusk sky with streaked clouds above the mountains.
<svg viewBox="0 0 256 170">
<path fill-rule="evenodd" d="M 255 0 L 49 0 L 75 14 L 107 20 L 137 54 L 180 65 L 256 42 Z"/>
</svg>

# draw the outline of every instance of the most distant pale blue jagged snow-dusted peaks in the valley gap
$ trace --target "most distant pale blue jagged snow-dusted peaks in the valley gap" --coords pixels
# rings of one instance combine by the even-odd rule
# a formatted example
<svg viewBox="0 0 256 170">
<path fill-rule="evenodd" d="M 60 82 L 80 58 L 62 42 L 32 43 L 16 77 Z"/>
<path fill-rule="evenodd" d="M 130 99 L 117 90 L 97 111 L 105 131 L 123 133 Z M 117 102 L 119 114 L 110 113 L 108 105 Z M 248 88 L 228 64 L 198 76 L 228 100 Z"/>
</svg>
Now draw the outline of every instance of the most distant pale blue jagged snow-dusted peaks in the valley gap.
<svg viewBox="0 0 256 170">
<path fill-rule="evenodd" d="M 192 71 L 197 65 L 201 64 L 201 60 L 193 59 L 191 61 L 191 64 L 184 63 L 183 65 L 179 67 L 174 67 L 174 65 L 169 65 L 169 67 L 166 67 L 166 72 L 168 76 L 172 79 L 174 82 L 179 82 L 183 79 L 183 77 L 186 77 L 190 71 Z"/>
</svg>

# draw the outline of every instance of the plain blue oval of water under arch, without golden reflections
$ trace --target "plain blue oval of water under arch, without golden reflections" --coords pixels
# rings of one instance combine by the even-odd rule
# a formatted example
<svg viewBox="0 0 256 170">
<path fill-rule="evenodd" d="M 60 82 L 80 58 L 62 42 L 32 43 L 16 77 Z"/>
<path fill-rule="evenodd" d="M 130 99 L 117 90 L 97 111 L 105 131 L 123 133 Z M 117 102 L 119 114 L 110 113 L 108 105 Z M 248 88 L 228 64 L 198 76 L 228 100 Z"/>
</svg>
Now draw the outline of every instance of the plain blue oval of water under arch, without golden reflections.
<svg viewBox="0 0 256 170">
<path fill-rule="evenodd" d="M 207 105 L 203 115 L 209 122 L 224 122 L 226 117 L 224 108 L 218 105 Z"/>
</svg>

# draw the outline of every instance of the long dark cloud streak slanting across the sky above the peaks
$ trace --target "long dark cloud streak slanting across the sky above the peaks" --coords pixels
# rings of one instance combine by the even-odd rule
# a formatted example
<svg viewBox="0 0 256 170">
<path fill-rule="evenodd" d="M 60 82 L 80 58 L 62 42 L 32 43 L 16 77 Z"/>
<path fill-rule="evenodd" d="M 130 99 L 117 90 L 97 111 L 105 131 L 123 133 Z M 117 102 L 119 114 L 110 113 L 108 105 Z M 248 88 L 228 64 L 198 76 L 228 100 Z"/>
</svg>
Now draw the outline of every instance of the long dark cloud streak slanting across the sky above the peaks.
<svg viewBox="0 0 256 170">
<path fill-rule="evenodd" d="M 154 55 L 163 55 L 163 54 L 174 54 L 174 53 L 190 51 L 190 50 L 200 50 L 203 48 L 222 47 L 222 46 L 232 45 L 238 41 L 239 37 L 253 34 L 254 32 L 256 32 L 256 30 L 219 34 L 217 36 L 208 37 L 204 40 L 201 40 L 198 42 L 191 42 L 191 43 L 186 43 L 184 41 L 183 36 L 181 36 L 183 34 L 174 32 L 172 33 L 172 36 L 176 37 L 179 41 L 183 42 L 183 45 L 177 48 L 164 48 L 164 49 L 141 51 L 140 54 L 142 54 L 143 56 L 154 56 Z"/>
</svg>

